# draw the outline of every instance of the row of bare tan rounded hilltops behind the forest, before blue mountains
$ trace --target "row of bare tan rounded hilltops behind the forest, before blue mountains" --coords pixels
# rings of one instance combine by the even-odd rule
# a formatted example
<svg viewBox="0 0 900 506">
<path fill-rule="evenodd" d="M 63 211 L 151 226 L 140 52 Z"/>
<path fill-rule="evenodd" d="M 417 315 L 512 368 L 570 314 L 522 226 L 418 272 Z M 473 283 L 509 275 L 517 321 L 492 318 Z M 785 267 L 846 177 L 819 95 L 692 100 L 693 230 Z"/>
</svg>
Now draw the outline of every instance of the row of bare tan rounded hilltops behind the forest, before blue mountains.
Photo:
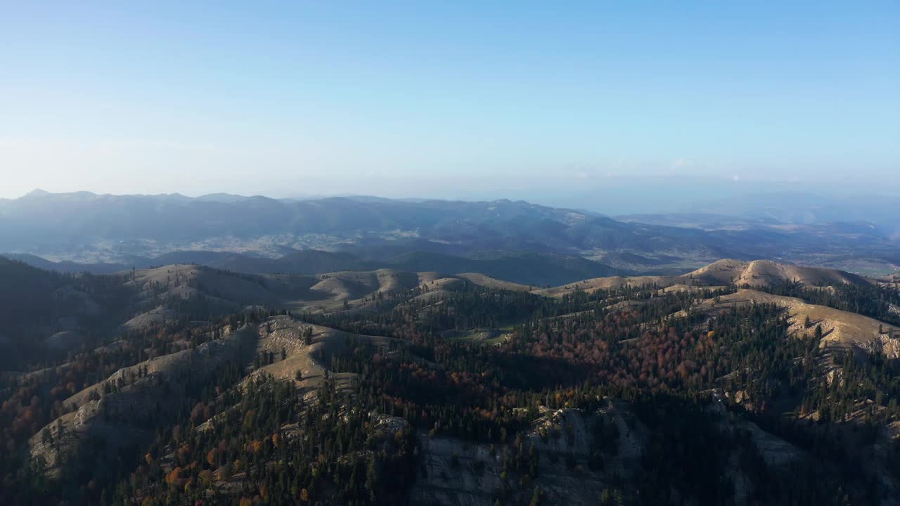
<svg viewBox="0 0 900 506">
<path fill-rule="evenodd" d="M 452 267 L 452 266 L 451 266 Z M 410 294 L 434 299 L 445 296 L 446 288 L 463 285 L 531 292 L 547 297 L 598 290 L 609 291 L 630 286 L 656 286 L 667 291 L 693 290 L 723 285 L 777 287 L 788 282 L 805 286 L 870 285 L 866 278 L 833 269 L 797 267 L 770 261 L 741 262 L 719 260 L 683 276 L 608 276 L 584 279 L 567 285 L 540 288 L 536 285 L 511 283 L 484 273 L 448 274 L 435 271 L 403 271 L 383 268 L 372 271 L 341 271 L 312 276 L 245 275 L 193 265 L 178 265 L 139 270 L 131 284 L 145 294 L 146 313 L 130 321 L 164 321 L 166 301 L 186 301 L 218 307 L 217 311 L 234 311 L 258 305 L 290 308 L 302 312 L 336 312 L 347 309 L 372 310 L 379 297 Z M 460 285 L 463 284 L 463 285 Z M 171 303 L 169 304 L 171 305 Z M 184 311 L 184 310 L 183 310 Z M 171 318 L 171 314 L 169 318 Z"/>
</svg>

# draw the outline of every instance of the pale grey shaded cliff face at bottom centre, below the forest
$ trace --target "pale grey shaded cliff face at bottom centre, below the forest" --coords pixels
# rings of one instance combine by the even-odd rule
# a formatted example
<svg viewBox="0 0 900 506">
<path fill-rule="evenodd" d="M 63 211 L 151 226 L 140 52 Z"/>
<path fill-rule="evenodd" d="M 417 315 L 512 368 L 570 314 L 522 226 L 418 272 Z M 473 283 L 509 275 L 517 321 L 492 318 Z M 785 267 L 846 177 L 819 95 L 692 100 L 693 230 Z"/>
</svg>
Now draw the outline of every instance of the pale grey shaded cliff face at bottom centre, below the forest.
<svg viewBox="0 0 900 506">
<path fill-rule="evenodd" d="M 615 425 L 617 438 L 605 447 L 602 463 L 590 462 L 596 440 L 595 423 Z M 634 425 L 635 429 L 630 429 Z M 639 424 L 626 423 L 625 413 L 609 405 L 596 413 L 581 410 L 545 411 L 522 439 L 525 452 L 536 451 L 536 477 L 512 471 L 504 474 L 504 458 L 516 444 L 475 444 L 457 438 L 419 435 L 422 472 L 410 492 L 412 504 L 491 506 L 498 498 L 528 501 L 535 486 L 548 504 L 595 504 L 614 480 L 638 468 L 644 438 Z M 602 445 L 600 445 L 602 446 Z"/>
</svg>

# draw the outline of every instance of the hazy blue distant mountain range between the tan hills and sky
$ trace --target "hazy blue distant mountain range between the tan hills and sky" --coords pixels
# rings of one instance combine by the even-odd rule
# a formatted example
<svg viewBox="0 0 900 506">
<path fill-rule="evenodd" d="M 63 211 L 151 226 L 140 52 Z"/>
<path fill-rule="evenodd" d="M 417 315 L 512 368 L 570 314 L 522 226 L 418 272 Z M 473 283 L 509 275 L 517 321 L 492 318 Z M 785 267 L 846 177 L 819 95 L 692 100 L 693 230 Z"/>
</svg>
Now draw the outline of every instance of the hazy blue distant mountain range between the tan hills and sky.
<svg viewBox="0 0 900 506">
<path fill-rule="evenodd" d="M 537 277 L 506 275 L 513 269 L 545 269 L 548 262 L 571 272 L 540 280 L 545 283 L 615 271 L 674 274 L 717 258 L 772 258 L 829 267 L 853 261 L 886 271 L 900 264 L 896 239 L 865 221 L 797 224 L 709 213 L 617 220 L 509 200 L 276 200 L 40 191 L 0 201 L 0 252 L 94 264 L 94 270 L 140 262 L 162 265 L 178 258 L 239 272 L 408 268 L 410 263 L 417 270 L 445 270 L 452 265 L 446 270 L 529 278 L 529 283 Z M 101 263 L 114 267 L 97 266 Z M 66 263 L 41 267 L 81 268 Z M 492 268 L 502 275 L 491 273 Z M 598 269 L 605 272 L 595 274 Z"/>
</svg>

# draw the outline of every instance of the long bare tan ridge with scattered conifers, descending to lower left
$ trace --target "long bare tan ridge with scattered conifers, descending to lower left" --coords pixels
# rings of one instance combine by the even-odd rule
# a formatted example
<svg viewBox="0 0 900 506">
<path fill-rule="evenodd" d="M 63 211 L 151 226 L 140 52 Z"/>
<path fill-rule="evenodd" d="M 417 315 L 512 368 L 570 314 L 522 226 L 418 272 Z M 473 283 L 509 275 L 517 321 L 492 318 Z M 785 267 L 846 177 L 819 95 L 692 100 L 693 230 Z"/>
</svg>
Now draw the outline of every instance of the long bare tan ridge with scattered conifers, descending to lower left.
<svg viewBox="0 0 900 506">
<path fill-rule="evenodd" d="M 311 330 L 308 344 L 304 330 Z M 69 411 L 31 438 L 31 458 L 40 458 L 49 476 L 58 476 L 65 461 L 102 460 L 121 448 L 143 444 L 150 438 L 153 425 L 166 423 L 184 406 L 193 405 L 191 398 L 197 392 L 192 385 L 215 380 L 228 366 L 252 371 L 244 384 L 256 377 L 274 377 L 296 382 L 304 392 L 310 392 L 323 384 L 330 358 L 346 353 L 351 340 L 364 346 L 402 346 L 396 339 L 306 325 L 289 316 L 275 316 L 235 331 L 224 329 L 222 334 L 221 339 L 195 348 L 122 367 L 71 395 L 62 402 Z M 270 356 L 275 358 L 267 358 Z M 265 357 L 263 364 L 259 357 Z M 268 360 L 271 362 L 266 363 Z M 302 379 L 297 379 L 298 370 Z M 348 386 L 352 376 L 337 378 Z M 148 420 L 153 420 L 153 425 L 148 426 Z M 85 441 L 99 445 L 103 451 L 84 447 Z"/>
</svg>

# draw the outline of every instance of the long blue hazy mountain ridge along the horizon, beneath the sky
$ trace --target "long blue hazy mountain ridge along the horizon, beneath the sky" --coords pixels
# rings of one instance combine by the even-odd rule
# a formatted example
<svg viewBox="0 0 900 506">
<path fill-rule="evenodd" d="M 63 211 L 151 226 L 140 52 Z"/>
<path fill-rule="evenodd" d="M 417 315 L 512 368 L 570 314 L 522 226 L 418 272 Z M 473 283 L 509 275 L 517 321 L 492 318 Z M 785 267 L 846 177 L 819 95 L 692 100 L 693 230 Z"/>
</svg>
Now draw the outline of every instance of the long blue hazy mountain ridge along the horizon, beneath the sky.
<svg viewBox="0 0 900 506">
<path fill-rule="evenodd" d="M 631 257 L 623 267 L 642 270 L 662 268 L 662 258 L 663 267 L 697 267 L 716 258 L 779 258 L 786 251 L 800 260 L 862 248 L 871 256 L 897 256 L 896 248 L 888 248 L 888 239 L 876 232 L 833 236 L 770 227 L 700 230 L 508 199 L 278 200 L 261 195 L 42 192 L 0 206 L 0 235 L 7 252 L 90 263 L 128 263 L 135 256 L 185 249 L 275 257 L 285 248 L 343 250 L 363 258 L 370 251 L 397 255 L 415 249 L 455 256 L 485 251 L 584 258 L 627 254 Z"/>
</svg>

